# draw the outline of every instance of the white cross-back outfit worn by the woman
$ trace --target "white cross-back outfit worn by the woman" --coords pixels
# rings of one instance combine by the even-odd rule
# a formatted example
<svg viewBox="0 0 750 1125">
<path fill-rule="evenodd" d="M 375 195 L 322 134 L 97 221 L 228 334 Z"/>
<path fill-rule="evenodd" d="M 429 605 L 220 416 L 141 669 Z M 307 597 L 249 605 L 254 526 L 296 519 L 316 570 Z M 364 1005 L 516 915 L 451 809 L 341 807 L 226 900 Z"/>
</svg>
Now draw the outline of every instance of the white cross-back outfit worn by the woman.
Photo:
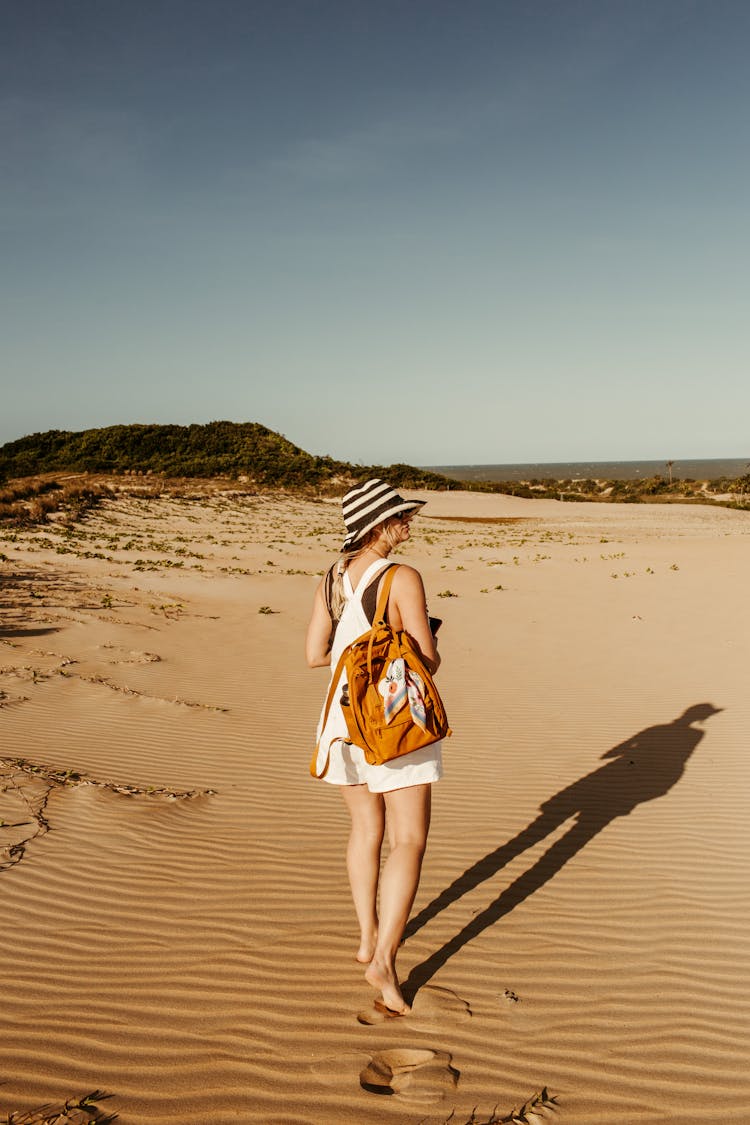
<svg viewBox="0 0 750 1125">
<path fill-rule="evenodd" d="M 353 640 L 368 632 L 370 622 L 362 609 L 362 595 L 379 570 L 388 566 L 388 559 L 376 559 L 360 578 L 356 590 L 352 588 L 349 572 L 344 572 L 344 597 L 346 604 L 342 612 L 331 649 L 332 675 L 338 664 L 338 657 Z M 323 781 L 332 785 L 367 785 L 371 793 L 389 793 L 394 789 L 405 789 L 407 785 L 422 785 L 440 781 L 443 776 L 442 744 L 433 742 L 421 750 L 405 754 L 392 762 L 380 766 L 371 766 L 364 757 L 364 752 L 349 741 L 346 719 L 341 709 L 341 692 L 346 683 L 346 670 L 342 670 L 338 687 L 331 703 L 331 711 L 322 731 L 323 713 L 318 721 L 320 745 L 318 747 L 317 770 L 323 768 L 326 754 L 329 753 L 328 771 Z"/>
</svg>

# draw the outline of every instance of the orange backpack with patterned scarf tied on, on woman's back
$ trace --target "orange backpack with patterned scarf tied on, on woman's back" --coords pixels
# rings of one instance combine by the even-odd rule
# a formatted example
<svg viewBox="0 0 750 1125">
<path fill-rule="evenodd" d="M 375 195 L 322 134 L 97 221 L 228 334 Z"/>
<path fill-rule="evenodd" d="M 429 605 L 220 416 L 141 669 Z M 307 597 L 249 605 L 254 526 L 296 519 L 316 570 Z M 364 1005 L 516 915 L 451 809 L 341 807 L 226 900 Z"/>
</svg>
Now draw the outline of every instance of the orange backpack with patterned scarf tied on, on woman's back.
<svg viewBox="0 0 750 1125">
<path fill-rule="evenodd" d="M 320 723 L 323 731 L 345 668 L 346 684 L 341 706 L 346 719 L 349 741 L 364 750 L 370 765 L 382 765 L 383 762 L 391 762 L 451 735 L 443 701 L 416 641 L 406 630 L 396 630 L 386 620 L 388 595 L 396 569 L 391 566 L 383 578 L 372 628 L 347 645 L 341 654 L 331 680 Z M 397 681 L 394 676 L 400 676 L 400 680 Z M 398 691 L 404 678 L 408 691 L 403 688 L 404 701 L 389 716 L 386 696 L 391 687 Z M 325 765 L 318 773 L 318 748 L 319 742 L 313 754 L 310 773 L 314 777 L 324 777 L 328 768 L 328 756 L 326 755 Z"/>
</svg>

